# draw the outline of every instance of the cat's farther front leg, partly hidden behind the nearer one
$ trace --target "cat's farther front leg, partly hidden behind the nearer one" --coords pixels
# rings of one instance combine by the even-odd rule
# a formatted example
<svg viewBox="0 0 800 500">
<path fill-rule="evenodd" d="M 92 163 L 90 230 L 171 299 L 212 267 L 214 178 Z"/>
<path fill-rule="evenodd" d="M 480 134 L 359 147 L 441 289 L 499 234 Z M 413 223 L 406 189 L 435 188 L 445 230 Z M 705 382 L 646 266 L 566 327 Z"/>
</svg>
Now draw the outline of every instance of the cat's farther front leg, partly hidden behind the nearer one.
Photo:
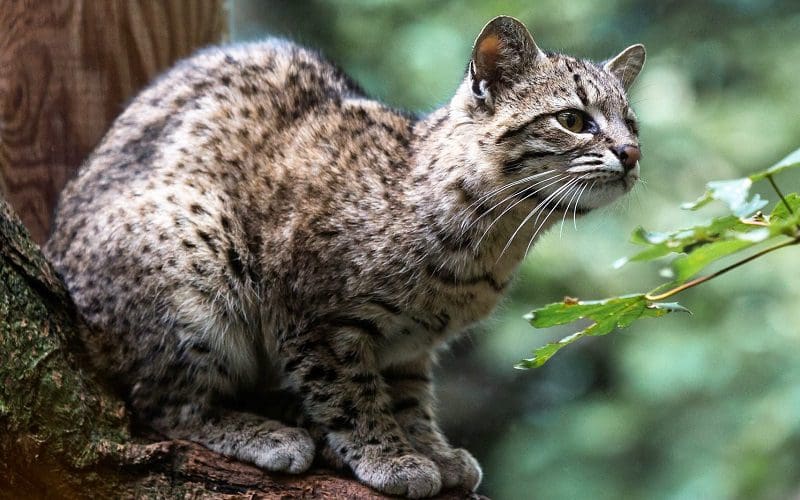
<svg viewBox="0 0 800 500">
<path fill-rule="evenodd" d="M 450 446 L 436 423 L 432 365 L 430 356 L 423 356 L 381 373 L 389 385 L 392 411 L 414 448 L 439 466 L 443 487 L 475 490 L 482 477 L 478 461 L 467 450 Z"/>
</svg>

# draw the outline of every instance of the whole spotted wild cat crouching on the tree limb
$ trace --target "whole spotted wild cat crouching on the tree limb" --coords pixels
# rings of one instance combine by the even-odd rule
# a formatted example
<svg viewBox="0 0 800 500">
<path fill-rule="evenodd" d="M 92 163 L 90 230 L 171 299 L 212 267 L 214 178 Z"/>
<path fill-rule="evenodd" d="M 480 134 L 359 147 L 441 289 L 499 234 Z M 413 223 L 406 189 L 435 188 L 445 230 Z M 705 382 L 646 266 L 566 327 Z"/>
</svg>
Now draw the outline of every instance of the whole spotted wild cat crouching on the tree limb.
<svg viewBox="0 0 800 500">
<path fill-rule="evenodd" d="M 542 230 L 636 182 L 644 59 L 545 53 L 501 16 L 418 118 L 287 41 L 204 49 L 116 120 L 45 251 L 93 361 L 157 431 L 270 471 L 316 453 L 388 494 L 474 490 L 434 416 L 436 350 Z M 296 415 L 268 418 L 281 391 Z"/>
</svg>

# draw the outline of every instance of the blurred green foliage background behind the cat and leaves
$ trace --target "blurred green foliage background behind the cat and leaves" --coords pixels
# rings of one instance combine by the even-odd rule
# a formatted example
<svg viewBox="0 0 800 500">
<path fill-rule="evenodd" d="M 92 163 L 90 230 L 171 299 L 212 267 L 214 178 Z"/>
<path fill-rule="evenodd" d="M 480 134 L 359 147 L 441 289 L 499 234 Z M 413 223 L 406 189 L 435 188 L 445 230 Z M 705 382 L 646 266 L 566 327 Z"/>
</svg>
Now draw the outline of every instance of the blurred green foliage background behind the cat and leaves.
<svg viewBox="0 0 800 500">
<path fill-rule="evenodd" d="M 376 98 L 425 113 L 445 103 L 471 45 L 498 14 L 538 44 L 597 60 L 642 42 L 631 101 L 644 183 L 525 262 L 493 319 L 442 355 L 440 414 L 484 466 L 496 499 L 780 499 L 800 495 L 798 250 L 678 296 L 693 316 L 646 320 L 571 346 L 546 367 L 512 365 L 566 330 L 521 318 L 564 295 L 645 291 L 656 264 L 630 254 L 637 225 L 668 230 L 721 213 L 679 204 L 800 147 L 796 1 L 509 2 L 235 0 L 234 39 L 266 34 L 320 49 Z M 800 176 L 782 175 L 785 191 Z M 769 186 L 757 186 L 769 194 Z M 773 197 L 774 198 L 774 197 Z"/>
</svg>

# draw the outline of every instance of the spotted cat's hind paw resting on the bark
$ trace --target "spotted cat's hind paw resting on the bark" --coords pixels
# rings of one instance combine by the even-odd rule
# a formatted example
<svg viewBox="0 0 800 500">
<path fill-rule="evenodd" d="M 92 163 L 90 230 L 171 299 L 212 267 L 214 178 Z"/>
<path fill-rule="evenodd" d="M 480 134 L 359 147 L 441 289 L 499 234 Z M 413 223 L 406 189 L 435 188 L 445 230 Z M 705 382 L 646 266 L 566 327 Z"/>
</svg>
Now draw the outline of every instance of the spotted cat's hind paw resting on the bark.
<svg viewBox="0 0 800 500">
<path fill-rule="evenodd" d="M 298 427 L 270 432 L 260 448 L 256 465 L 273 472 L 299 474 L 308 470 L 314 460 L 314 441 Z"/>
</svg>

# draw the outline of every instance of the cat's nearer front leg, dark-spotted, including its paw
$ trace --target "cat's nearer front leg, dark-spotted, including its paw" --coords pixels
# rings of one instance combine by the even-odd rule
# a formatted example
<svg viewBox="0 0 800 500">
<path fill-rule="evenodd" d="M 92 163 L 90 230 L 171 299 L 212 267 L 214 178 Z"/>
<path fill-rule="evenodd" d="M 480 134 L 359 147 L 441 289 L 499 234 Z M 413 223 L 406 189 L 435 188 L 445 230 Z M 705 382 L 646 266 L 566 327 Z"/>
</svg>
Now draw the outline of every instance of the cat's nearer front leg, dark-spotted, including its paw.
<svg viewBox="0 0 800 500">
<path fill-rule="evenodd" d="M 338 318 L 280 342 L 285 379 L 327 447 L 369 486 L 422 498 L 442 486 L 439 467 L 417 452 L 392 414 L 368 321 Z"/>
</svg>

